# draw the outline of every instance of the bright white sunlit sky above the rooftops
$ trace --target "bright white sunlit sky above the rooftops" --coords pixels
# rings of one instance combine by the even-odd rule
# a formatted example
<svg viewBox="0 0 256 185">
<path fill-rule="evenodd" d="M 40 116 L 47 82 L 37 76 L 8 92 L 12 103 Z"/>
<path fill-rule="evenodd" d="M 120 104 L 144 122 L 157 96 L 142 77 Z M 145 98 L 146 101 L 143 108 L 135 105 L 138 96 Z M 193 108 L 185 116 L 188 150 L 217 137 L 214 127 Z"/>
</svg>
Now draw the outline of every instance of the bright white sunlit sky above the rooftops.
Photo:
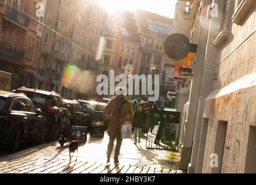
<svg viewBox="0 0 256 185">
<path fill-rule="evenodd" d="M 109 13 L 118 10 L 142 9 L 174 18 L 176 0 L 95 0 Z"/>
</svg>

